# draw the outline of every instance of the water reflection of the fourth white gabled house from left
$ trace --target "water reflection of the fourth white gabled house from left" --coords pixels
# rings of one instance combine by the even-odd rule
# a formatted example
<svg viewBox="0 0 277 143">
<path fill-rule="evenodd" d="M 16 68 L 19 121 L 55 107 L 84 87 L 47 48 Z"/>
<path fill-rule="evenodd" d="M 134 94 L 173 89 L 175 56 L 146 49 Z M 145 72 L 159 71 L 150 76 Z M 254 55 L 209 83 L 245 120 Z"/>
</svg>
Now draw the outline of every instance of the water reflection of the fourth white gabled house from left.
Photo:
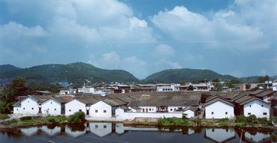
<svg viewBox="0 0 277 143">
<path fill-rule="evenodd" d="M 111 123 L 90 123 L 89 128 L 91 129 L 91 133 L 94 133 L 99 137 L 104 137 L 111 133 Z"/>
</svg>

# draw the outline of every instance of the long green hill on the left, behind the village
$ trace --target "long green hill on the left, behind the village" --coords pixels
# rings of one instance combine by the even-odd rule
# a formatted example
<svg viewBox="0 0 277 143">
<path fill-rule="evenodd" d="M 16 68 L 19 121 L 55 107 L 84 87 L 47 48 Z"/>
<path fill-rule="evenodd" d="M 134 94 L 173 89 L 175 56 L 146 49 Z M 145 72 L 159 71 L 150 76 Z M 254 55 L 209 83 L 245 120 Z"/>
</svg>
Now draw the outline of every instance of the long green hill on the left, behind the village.
<svg viewBox="0 0 277 143">
<path fill-rule="evenodd" d="M 46 64 L 33 66 L 17 70 L 0 71 L 1 79 L 11 79 L 12 77 L 24 77 L 31 82 L 73 82 L 82 84 L 85 79 L 92 82 L 138 82 L 134 75 L 125 70 L 105 70 L 96 68 L 91 64 L 72 63 L 72 64 Z"/>
</svg>

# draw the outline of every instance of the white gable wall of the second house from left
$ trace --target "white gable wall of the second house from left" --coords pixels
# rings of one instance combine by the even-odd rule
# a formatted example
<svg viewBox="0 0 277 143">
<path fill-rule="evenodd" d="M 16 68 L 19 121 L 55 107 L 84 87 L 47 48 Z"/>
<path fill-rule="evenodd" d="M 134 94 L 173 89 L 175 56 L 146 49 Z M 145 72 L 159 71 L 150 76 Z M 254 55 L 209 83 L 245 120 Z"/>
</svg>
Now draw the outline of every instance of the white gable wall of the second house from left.
<svg viewBox="0 0 277 143">
<path fill-rule="evenodd" d="M 61 104 L 55 99 L 48 99 L 42 103 L 42 114 L 61 115 Z"/>
</svg>

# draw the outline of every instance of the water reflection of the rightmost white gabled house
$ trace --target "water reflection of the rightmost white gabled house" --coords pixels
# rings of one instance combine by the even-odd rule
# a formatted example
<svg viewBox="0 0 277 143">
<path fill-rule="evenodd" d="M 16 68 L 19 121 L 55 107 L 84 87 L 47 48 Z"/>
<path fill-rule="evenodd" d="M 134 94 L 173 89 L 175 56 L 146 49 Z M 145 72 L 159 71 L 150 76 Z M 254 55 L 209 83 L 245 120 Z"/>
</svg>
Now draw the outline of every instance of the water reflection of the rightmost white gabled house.
<svg viewBox="0 0 277 143">
<path fill-rule="evenodd" d="M 244 133 L 244 141 L 246 142 L 271 142 L 270 135 L 267 133 L 259 133 L 257 132 L 256 135 L 251 135 L 251 133 Z"/>
</svg>

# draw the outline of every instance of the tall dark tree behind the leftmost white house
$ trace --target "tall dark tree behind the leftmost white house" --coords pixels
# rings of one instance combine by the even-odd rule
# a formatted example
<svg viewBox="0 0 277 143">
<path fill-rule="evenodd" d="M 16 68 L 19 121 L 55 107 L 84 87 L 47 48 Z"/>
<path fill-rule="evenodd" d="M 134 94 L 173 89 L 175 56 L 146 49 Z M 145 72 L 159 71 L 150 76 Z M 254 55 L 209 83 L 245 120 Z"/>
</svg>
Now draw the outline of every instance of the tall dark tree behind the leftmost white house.
<svg viewBox="0 0 277 143">
<path fill-rule="evenodd" d="M 13 102 L 15 97 L 26 95 L 26 79 L 23 77 L 15 77 L 10 83 L 10 94 L 8 102 Z"/>
</svg>

